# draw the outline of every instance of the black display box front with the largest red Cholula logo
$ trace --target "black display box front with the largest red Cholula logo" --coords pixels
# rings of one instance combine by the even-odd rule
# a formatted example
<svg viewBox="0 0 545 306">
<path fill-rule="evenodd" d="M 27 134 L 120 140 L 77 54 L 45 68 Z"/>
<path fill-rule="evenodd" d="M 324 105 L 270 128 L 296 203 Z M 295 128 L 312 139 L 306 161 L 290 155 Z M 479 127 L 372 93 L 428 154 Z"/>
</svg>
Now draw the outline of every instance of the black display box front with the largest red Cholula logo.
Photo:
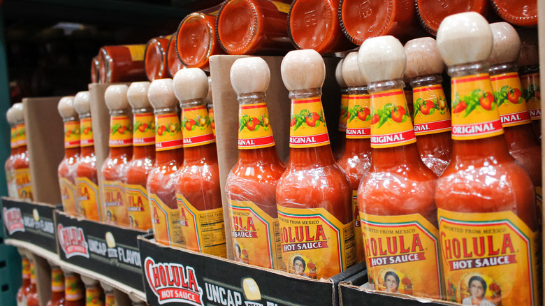
<svg viewBox="0 0 545 306">
<path fill-rule="evenodd" d="M 361 263 L 326 280 L 235 263 L 138 237 L 149 305 L 339 305 L 339 282 Z"/>
</svg>

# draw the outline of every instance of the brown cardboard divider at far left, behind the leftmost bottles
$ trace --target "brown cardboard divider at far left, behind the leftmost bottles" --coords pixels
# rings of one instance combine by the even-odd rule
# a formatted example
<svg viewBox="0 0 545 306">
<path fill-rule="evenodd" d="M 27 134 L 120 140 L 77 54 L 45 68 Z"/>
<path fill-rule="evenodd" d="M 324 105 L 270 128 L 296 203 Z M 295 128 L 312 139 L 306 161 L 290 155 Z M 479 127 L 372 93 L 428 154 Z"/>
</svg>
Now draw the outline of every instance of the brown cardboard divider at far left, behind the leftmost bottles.
<svg viewBox="0 0 545 306">
<path fill-rule="evenodd" d="M 43 203 L 61 203 L 57 168 L 64 156 L 64 124 L 57 110 L 60 99 L 22 99 L 32 196 Z"/>
</svg>

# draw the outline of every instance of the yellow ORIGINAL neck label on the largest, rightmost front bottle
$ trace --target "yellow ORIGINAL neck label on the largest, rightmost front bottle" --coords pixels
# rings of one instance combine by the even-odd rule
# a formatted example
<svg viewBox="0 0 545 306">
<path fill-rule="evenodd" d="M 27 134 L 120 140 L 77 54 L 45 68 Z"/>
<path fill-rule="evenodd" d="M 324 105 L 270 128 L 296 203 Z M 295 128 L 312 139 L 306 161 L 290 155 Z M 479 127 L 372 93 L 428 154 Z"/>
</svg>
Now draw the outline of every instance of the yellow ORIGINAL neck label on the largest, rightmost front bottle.
<svg viewBox="0 0 545 306">
<path fill-rule="evenodd" d="M 452 139 L 472 140 L 503 133 L 488 73 L 452 78 Z"/>
</svg>

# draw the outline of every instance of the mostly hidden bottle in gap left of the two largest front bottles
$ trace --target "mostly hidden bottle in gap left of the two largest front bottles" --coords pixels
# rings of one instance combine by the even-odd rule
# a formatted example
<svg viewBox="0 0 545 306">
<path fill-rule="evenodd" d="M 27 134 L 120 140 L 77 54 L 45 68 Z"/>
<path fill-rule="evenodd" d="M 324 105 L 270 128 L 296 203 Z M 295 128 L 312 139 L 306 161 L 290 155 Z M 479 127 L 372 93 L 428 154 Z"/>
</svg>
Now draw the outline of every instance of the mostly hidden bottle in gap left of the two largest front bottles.
<svg viewBox="0 0 545 306">
<path fill-rule="evenodd" d="M 347 173 L 352 188 L 356 258 L 362 262 L 365 261 L 365 249 L 358 209 L 358 186 L 371 166 L 371 105 L 367 81 L 358 68 L 358 52 L 351 52 L 344 58 L 342 78 L 348 86 L 347 147 L 337 163 Z"/>
</svg>

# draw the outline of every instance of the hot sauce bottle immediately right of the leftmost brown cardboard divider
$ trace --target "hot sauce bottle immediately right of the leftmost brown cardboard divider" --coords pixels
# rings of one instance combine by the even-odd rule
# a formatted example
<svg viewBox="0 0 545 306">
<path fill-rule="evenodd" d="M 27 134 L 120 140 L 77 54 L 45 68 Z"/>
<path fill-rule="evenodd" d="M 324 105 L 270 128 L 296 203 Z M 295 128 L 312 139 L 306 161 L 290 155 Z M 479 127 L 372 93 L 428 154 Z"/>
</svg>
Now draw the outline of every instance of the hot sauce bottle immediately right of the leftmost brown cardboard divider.
<svg viewBox="0 0 545 306">
<path fill-rule="evenodd" d="M 74 97 L 65 96 L 59 101 L 59 114 L 64 122 L 64 159 L 59 164 L 59 187 L 61 188 L 62 208 L 67 214 L 75 216 L 78 212 L 75 198 L 75 168 L 80 158 L 80 118 L 74 108 Z"/>
</svg>

